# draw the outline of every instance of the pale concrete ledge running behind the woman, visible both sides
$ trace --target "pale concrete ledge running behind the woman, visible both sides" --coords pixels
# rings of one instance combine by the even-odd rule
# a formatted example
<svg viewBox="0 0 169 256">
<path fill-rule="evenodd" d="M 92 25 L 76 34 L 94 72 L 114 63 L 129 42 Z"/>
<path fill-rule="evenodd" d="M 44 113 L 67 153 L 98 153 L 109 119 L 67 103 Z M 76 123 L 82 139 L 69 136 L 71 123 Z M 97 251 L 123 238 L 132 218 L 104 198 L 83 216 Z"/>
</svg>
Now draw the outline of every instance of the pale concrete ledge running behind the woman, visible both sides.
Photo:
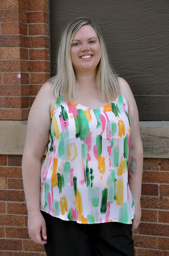
<svg viewBox="0 0 169 256">
<path fill-rule="evenodd" d="M 0 155 L 22 155 L 27 121 L 0 121 Z M 140 122 L 145 158 L 169 158 L 169 122 Z"/>
</svg>

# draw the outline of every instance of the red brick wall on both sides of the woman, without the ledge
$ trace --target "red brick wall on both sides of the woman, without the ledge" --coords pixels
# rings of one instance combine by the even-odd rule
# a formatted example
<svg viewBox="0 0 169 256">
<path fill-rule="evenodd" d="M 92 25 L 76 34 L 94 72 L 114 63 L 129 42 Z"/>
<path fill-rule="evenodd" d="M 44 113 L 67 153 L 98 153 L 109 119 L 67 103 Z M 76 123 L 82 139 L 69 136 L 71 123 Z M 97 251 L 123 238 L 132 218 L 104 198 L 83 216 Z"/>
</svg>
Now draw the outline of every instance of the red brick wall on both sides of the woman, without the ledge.
<svg viewBox="0 0 169 256">
<path fill-rule="evenodd" d="M 0 2 L 0 119 L 27 119 L 49 78 L 47 0 Z M 1 122 L 1 121 L 0 121 Z M 0 155 L 0 256 L 45 255 L 27 235 L 22 156 Z M 169 160 L 144 159 L 142 221 L 136 255 L 169 255 Z"/>
</svg>

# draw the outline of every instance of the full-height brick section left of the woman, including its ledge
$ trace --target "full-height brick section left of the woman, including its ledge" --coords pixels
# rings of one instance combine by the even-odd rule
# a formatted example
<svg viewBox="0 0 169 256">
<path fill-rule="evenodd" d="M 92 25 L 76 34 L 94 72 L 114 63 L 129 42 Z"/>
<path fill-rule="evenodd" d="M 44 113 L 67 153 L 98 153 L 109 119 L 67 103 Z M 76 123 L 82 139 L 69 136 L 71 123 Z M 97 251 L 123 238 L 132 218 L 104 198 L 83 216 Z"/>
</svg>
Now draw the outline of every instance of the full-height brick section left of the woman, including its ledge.
<svg viewBox="0 0 169 256">
<path fill-rule="evenodd" d="M 32 102 L 49 78 L 48 0 L 0 0 L 0 255 L 46 255 L 30 240 L 22 150 Z"/>
</svg>

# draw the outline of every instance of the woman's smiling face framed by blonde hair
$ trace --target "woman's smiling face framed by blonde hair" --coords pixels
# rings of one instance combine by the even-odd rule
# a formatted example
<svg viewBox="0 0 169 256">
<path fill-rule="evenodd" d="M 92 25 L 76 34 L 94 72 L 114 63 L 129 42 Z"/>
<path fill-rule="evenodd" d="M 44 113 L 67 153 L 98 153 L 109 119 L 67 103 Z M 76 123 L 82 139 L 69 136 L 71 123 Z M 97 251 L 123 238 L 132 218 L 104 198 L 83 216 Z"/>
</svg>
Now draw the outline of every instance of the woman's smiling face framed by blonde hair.
<svg viewBox="0 0 169 256">
<path fill-rule="evenodd" d="M 83 25 L 74 35 L 71 45 L 71 61 L 75 74 L 95 72 L 101 58 L 97 33 L 90 25 Z"/>
</svg>

